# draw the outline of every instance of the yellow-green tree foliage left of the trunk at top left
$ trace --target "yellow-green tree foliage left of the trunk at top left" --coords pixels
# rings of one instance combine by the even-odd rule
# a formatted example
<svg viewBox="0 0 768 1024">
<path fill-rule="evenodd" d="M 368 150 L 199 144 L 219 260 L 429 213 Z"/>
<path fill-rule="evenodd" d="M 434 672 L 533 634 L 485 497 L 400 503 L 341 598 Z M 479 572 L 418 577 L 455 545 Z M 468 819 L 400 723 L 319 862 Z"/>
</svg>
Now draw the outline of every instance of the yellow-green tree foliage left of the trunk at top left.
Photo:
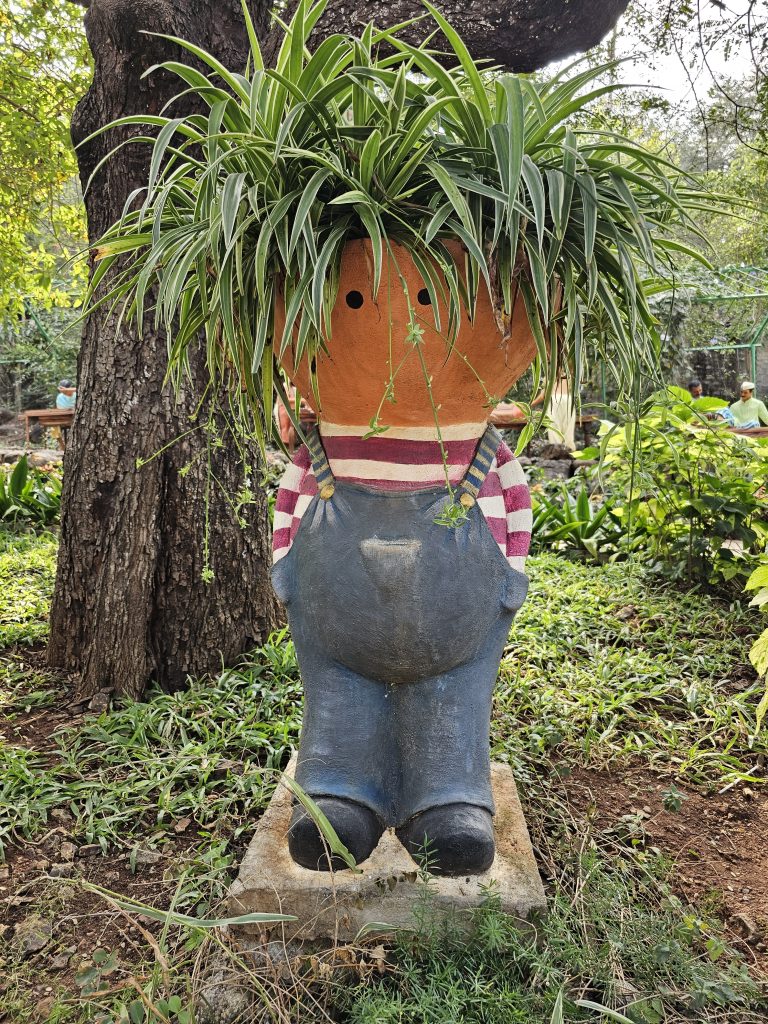
<svg viewBox="0 0 768 1024">
<path fill-rule="evenodd" d="M 70 118 L 91 73 L 82 11 L 51 0 L 0 6 L 0 318 L 25 298 L 79 300 L 84 245 Z"/>
</svg>

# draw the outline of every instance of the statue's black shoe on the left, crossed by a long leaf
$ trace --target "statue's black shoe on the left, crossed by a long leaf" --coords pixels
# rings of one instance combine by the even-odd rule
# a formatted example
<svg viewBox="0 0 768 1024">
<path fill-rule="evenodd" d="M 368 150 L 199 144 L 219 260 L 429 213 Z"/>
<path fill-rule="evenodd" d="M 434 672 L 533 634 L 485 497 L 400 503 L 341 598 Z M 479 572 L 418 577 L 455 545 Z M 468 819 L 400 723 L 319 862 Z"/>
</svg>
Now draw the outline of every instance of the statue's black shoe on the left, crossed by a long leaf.
<svg viewBox="0 0 768 1024">
<path fill-rule="evenodd" d="M 374 812 L 361 804 L 336 797 L 315 797 L 314 802 L 355 861 L 360 864 L 368 860 L 384 831 Z M 297 864 L 313 871 L 327 871 L 331 867 L 338 871 L 347 866 L 340 857 L 329 858 L 319 829 L 300 804 L 293 809 L 288 849 Z"/>
</svg>

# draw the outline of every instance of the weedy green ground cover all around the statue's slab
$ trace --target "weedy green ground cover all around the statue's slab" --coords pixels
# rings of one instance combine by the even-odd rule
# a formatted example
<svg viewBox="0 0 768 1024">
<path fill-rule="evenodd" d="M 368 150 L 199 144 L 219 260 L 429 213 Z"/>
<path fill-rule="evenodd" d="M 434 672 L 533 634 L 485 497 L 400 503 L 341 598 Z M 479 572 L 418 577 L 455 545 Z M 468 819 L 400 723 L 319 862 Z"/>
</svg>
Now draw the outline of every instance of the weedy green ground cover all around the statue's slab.
<svg viewBox="0 0 768 1024">
<path fill-rule="evenodd" d="M 54 721 L 67 700 L 60 681 L 27 672 L 18 646 L 44 634 L 54 544 L 45 536 L 3 544 L 17 565 L 37 566 L 19 578 L 19 608 L 33 610 L 17 615 L 16 646 L 6 649 L 0 676 L 0 836 L 6 888 L 22 900 L 6 903 L 5 922 L 16 927 L 34 911 L 54 924 L 41 951 L 23 953 L 11 939 L 0 953 L 7 1019 L 205 1020 L 201 979 L 215 963 L 255 997 L 249 1021 L 610 1019 L 590 1000 L 635 1024 L 765 1020 L 760 983 L 717 915 L 681 901 L 665 851 L 641 829 L 598 827 L 574 814 L 566 790 L 568 773 L 583 766 L 607 767 L 616 779 L 627 766 L 650 767 L 671 793 L 675 784 L 754 785 L 762 777 L 761 687 L 745 664 L 759 622 L 741 607 L 662 589 L 632 565 L 532 559 L 530 596 L 502 666 L 493 743 L 520 783 L 548 884 L 547 920 L 520 935 L 489 892 L 467 942 L 430 926 L 426 881 L 425 927 L 415 936 L 312 955 L 286 956 L 273 944 L 271 957 L 252 959 L 225 936 L 173 919 L 158 925 L 125 902 L 121 909 L 121 899 L 199 918 L 216 912 L 298 737 L 290 638 L 275 636 L 239 668 L 185 692 L 101 713 L 74 708 Z M 45 721 L 54 727 L 41 744 L 36 730 Z M 59 860 L 62 839 L 95 847 L 95 855 L 78 854 L 69 877 L 51 879 L 41 858 Z M 87 888 L 94 884 L 114 895 Z"/>
</svg>

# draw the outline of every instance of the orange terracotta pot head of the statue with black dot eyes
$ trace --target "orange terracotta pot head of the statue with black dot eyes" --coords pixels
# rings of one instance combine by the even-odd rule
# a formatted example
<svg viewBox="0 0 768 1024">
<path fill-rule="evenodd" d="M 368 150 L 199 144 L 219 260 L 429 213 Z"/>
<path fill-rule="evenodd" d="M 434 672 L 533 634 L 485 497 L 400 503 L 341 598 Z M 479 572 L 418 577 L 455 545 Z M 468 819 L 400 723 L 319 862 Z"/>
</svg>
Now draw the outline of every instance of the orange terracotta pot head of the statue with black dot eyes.
<svg viewBox="0 0 768 1024">
<path fill-rule="evenodd" d="M 453 251 L 455 258 L 460 259 L 461 247 L 457 245 Z M 419 348 L 426 377 L 431 381 L 440 426 L 483 422 L 492 408 L 488 395 L 503 398 L 536 356 L 536 342 L 522 299 L 515 303 L 505 341 L 497 326 L 490 297 L 481 285 L 474 322 L 466 310 L 462 311 L 459 333 L 451 346 L 447 304 L 442 297 L 438 298 L 442 329 L 438 333 L 429 293 L 408 250 L 392 246 L 392 256 L 385 254 L 379 292 L 374 295 L 371 243 L 362 240 L 350 242 L 344 249 L 328 351 L 316 355 L 321 419 L 362 425 L 378 413 L 381 426 L 434 424 L 424 367 L 411 340 L 409 300 L 400 275 L 407 283 L 415 318 L 422 329 Z M 281 301 L 276 303 L 274 326 L 280 337 L 285 326 Z M 314 403 L 306 358 L 295 366 L 293 352 L 287 350 L 283 366 L 299 391 Z M 382 402 L 388 390 L 393 400 L 387 398 Z"/>
</svg>

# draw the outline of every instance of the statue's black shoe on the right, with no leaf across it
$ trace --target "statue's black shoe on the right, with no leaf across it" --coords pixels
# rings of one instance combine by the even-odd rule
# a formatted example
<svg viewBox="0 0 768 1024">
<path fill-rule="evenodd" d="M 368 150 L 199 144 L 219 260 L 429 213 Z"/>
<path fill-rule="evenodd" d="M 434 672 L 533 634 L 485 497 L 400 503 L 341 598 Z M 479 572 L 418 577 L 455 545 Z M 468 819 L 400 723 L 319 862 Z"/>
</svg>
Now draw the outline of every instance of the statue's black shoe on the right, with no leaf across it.
<svg viewBox="0 0 768 1024">
<path fill-rule="evenodd" d="M 412 857 L 427 850 L 435 874 L 480 874 L 494 862 L 494 818 L 484 807 L 446 804 L 430 807 L 396 829 Z"/>
</svg>

